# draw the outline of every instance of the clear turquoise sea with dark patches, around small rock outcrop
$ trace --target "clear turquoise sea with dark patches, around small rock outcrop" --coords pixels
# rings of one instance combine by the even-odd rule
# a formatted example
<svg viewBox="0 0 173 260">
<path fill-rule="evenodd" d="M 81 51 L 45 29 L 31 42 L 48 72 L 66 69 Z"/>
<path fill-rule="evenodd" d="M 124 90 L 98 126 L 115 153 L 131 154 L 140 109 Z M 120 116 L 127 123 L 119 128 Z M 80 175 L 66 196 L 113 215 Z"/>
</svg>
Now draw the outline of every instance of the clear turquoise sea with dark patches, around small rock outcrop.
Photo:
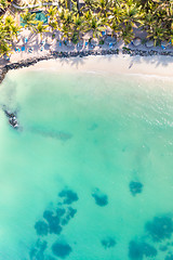
<svg viewBox="0 0 173 260">
<path fill-rule="evenodd" d="M 4 106 L 0 260 L 173 259 L 173 80 L 17 70 Z"/>
</svg>

